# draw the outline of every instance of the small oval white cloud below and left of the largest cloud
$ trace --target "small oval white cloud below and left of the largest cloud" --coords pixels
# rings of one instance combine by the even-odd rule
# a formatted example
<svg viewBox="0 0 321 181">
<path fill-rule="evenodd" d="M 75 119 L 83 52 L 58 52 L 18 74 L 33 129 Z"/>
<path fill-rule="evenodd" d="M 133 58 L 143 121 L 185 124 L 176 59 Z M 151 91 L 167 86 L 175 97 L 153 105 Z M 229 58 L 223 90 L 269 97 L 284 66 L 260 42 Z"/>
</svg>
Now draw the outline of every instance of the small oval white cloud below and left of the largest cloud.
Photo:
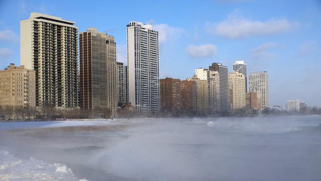
<svg viewBox="0 0 321 181">
<path fill-rule="evenodd" d="M 215 55 L 217 47 L 212 44 L 189 45 L 185 51 L 192 58 L 201 58 Z"/>
</svg>

